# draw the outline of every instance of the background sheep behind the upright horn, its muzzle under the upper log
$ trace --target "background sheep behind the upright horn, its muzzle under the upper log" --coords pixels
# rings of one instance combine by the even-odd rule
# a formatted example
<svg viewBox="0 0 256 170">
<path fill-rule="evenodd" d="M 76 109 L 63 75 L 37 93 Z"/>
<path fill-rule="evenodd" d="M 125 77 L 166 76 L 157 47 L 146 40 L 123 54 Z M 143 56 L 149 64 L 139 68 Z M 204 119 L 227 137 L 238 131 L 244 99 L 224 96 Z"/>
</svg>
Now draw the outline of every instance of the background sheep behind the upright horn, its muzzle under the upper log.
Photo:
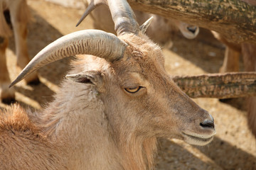
<svg viewBox="0 0 256 170">
<path fill-rule="evenodd" d="M 90 16 L 93 18 L 93 24 L 96 29 L 105 30 L 109 33 L 114 33 L 114 23 L 111 18 L 110 11 L 107 6 L 100 6 L 100 4 L 105 4 L 104 0 L 83 0 L 85 7 L 88 7 L 87 12 L 82 16 L 79 23 L 82 21 L 85 16 L 90 13 Z M 97 8 L 95 8 L 97 6 Z M 193 39 L 199 33 L 199 27 L 193 26 L 188 23 L 183 23 L 182 21 L 178 21 L 172 18 L 164 18 L 151 13 L 144 13 L 142 11 L 134 10 L 135 16 L 137 18 L 137 22 L 139 24 L 144 23 L 151 16 L 154 17 L 154 20 L 151 21 L 151 26 L 146 30 L 146 35 L 154 40 L 154 42 L 159 45 L 166 45 L 169 47 L 171 42 L 171 37 L 173 37 L 174 33 L 178 33 L 178 30 L 181 31 L 182 35 L 185 38 Z M 77 26 L 78 26 L 77 25 Z M 171 42 L 171 43 L 170 43 Z"/>
</svg>

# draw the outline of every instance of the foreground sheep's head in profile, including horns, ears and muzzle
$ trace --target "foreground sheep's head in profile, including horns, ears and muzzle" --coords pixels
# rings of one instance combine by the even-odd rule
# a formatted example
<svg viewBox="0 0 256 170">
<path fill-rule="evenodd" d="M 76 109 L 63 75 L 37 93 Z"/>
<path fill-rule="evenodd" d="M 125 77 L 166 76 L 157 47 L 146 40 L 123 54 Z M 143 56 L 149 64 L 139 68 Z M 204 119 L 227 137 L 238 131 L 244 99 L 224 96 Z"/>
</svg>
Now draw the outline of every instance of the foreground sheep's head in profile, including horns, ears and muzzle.
<svg viewBox="0 0 256 170">
<path fill-rule="evenodd" d="M 119 130 L 129 128 L 137 136 L 175 137 L 193 145 L 208 144 L 215 135 L 213 117 L 172 81 L 164 69 L 160 47 L 144 35 L 149 22 L 137 26 L 132 9 L 122 2 L 117 4 L 128 14 L 110 8 L 112 17 L 117 17 L 117 36 L 100 30 L 65 35 L 39 52 L 11 86 L 33 70 L 63 57 L 80 54 L 85 57 L 81 60 L 85 67 L 85 54 L 95 55 L 102 58 L 94 60 L 98 67 L 74 69 L 67 78 L 94 86 L 110 124 L 121 123 Z M 123 24 L 119 19 L 125 17 L 128 19 L 124 21 L 129 22 Z"/>
</svg>

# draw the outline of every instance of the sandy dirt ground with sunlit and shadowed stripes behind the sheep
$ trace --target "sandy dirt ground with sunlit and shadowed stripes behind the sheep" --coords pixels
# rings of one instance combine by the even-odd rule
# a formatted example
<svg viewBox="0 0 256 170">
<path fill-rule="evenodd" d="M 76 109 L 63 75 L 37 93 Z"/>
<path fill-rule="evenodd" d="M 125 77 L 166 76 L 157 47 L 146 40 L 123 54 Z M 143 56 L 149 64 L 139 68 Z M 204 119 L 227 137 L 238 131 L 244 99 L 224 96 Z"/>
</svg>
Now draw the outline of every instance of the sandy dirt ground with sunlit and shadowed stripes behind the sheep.
<svg viewBox="0 0 256 170">
<path fill-rule="evenodd" d="M 75 30 L 91 29 L 92 19 L 86 18 L 78 28 L 75 24 L 83 11 L 64 8 L 43 0 L 28 0 L 33 14 L 29 25 L 29 55 L 35 56 L 48 43 Z M 11 79 L 18 70 L 14 69 L 16 57 L 14 38 L 7 50 L 7 60 Z M 196 40 L 187 40 L 179 33 L 172 38 L 170 50 L 163 49 L 166 57 L 166 70 L 169 74 L 202 74 L 218 72 L 223 61 L 225 47 L 214 40 L 208 31 L 201 31 Z M 38 70 L 41 84 L 17 84 L 16 101 L 24 107 L 40 110 L 53 100 L 58 85 L 68 71 L 72 57 L 49 64 Z M 242 68 L 242 64 L 241 64 Z M 217 98 L 196 98 L 196 103 L 205 108 L 215 118 L 217 134 L 206 147 L 188 145 L 181 140 L 159 140 L 159 155 L 156 169 L 210 170 L 210 169 L 256 169 L 256 140 L 247 128 L 244 98 L 222 103 Z M 8 107 L 0 103 L 1 108 Z"/>
</svg>

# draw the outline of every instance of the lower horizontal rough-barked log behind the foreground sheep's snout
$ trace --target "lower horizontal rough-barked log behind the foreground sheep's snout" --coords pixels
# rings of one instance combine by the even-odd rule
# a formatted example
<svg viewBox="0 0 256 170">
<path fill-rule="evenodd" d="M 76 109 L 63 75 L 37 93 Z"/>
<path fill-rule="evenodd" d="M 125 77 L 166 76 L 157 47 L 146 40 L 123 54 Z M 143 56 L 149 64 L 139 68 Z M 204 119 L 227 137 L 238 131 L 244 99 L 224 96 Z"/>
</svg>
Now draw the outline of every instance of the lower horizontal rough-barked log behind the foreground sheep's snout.
<svg viewBox="0 0 256 170">
<path fill-rule="evenodd" d="M 173 79 L 191 98 L 238 98 L 256 96 L 256 72 L 177 76 Z"/>
</svg>

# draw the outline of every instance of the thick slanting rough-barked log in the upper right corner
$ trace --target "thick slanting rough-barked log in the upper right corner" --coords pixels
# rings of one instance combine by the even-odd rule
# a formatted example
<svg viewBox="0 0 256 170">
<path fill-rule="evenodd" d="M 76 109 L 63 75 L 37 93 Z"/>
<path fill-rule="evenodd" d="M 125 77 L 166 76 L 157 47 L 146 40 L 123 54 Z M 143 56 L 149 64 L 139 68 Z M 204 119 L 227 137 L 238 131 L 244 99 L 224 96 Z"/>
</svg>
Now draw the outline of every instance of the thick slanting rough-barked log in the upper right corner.
<svg viewBox="0 0 256 170">
<path fill-rule="evenodd" d="M 227 40 L 256 42 L 256 6 L 240 0 L 128 0 L 132 8 L 215 30 Z"/>
</svg>

